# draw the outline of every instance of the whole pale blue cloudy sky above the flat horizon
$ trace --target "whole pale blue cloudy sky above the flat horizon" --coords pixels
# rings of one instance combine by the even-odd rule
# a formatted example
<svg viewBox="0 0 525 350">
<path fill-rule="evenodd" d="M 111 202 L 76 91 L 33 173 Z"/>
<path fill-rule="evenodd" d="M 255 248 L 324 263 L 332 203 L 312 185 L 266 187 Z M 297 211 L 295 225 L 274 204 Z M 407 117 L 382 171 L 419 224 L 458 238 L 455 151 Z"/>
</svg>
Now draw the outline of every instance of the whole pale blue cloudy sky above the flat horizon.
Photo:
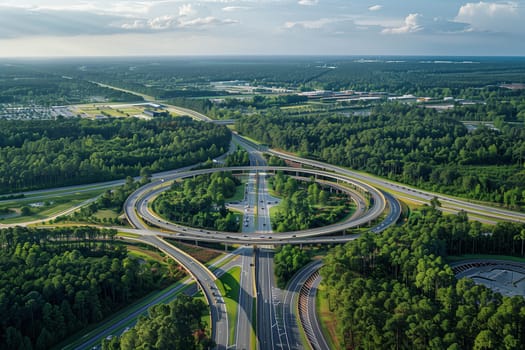
<svg viewBox="0 0 525 350">
<path fill-rule="evenodd" d="M 525 56 L 525 0 L 0 0 L 0 57 Z"/>
</svg>

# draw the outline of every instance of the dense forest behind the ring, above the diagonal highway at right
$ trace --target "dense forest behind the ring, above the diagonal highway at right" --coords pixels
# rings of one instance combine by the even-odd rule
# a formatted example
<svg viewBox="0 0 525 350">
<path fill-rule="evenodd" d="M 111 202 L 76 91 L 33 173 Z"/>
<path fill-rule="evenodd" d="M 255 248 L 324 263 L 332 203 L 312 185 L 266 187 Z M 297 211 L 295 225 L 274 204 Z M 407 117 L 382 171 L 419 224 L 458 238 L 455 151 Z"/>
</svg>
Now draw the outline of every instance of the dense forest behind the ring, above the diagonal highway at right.
<svg viewBox="0 0 525 350">
<path fill-rule="evenodd" d="M 272 147 L 418 187 L 525 205 L 525 129 L 472 132 L 433 110 L 377 106 L 370 116 L 290 116 L 272 109 L 238 120 L 240 133 Z"/>
</svg>

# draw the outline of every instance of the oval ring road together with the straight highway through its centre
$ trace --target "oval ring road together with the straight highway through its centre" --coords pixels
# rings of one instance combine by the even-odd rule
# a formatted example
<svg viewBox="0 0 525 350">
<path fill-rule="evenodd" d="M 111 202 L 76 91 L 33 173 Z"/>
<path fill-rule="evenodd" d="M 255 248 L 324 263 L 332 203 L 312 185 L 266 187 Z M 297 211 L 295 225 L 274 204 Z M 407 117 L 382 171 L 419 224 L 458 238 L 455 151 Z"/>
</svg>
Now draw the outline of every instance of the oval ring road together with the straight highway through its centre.
<svg viewBox="0 0 525 350">
<path fill-rule="evenodd" d="M 253 285 L 255 281 L 256 290 L 256 344 L 260 349 L 297 349 L 302 348 L 301 340 L 298 336 L 300 334 L 299 325 L 297 322 L 290 321 L 290 312 L 283 310 L 283 305 L 287 302 L 285 298 L 285 291 L 279 290 L 275 285 L 275 277 L 273 274 L 273 250 L 272 245 L 276 242 L 296 243 L 301 239 L 308 243 L 311 237 L 322 236 L 327 233 L 342 232 L 352 227 L 364 225 L 370 221 L 377 220 L 385 211 L 387 207 L 387 199 L 392 201 L 388 203 L 390 210 L 388 215 L 381 221 L 381 223 L 374 228 L 377 232 L 395 223 L 400 215 L 399 203 L 391 196 L 385 196 L 384 193 L 376 191 L 374 188 L 359 181 L 327 173 L 324 171 L 312 169 L 295 169 L 287 167 L 269 167 L 266 166 L 266 161 L 262 154 L 257 150 L 245 145 L 250 151 L 251 166 L 249 168 L 234 167 L 234 168 L 215 168 L 202 169 L 197 171 L 174 172 L 172 174 L 165 174 L 161 179 L 153 181 L 145 185 L 136 192 L 134 192 L 126 201 L 124 206 L 125 213 L 129 222 L 136 228 L 142 229 L 142 234 L 146 233 L 147 227 L 144 222 L 160 227 L 163 230 L 168 230 L 173 233 L 163 233 L 162 235 L 175 234 L 177 238 L 195 239 L 205 241 L 220 241 L 237 244 L 258 244 L 255 248 L 255 276 L 251 269 L 251 254 L 254 248 L 245 248 L 242 256 L 242 273 L 240 279 L 240 294 L 239 305 L 237 312 L 237 329 L 236 329 L 236 349 L 251 348 L 252 334 L 250 327 L 252 327 L 252 306 L 253 305 Z M 245 218 L 242 222 L 243 230 L 241 233 L 231 232 L 217 232 L 210 230 L 194 229 L 184 227 L 177 224 L 172 224 L 158 217 L 150 210 L 150 203 L 160 193 L 170 187 L 172 181 L 186 177 L 193 177 L 200 174 L 215 172 L 215 171 L 233 171 L 247 173 L 248 181 L 245 189 L 245 198 L 241 202 L 241 208 L 244 209 Z M 338 190 L 345 190 L 351 195 L 356 203 L 356 214 L 349 220 L 338 223 L 336 225 L 297 232 L 288 233 L 272 233 L 270 222 L 269 208 L 276 202 L 268 193 L 267 188 L 267 174 L 270 171 L 289 171 L 292 173 L 307 173 L 308 175 L 322 176 L 324 178 L 335 179 L 332 183 L 334 188 Z M 302 174 L 303 175 L 303 174 Z M 354 190 L 341 186 L 340 182 L 347 182 L 354 187 Z M 330 184 L 326 182 L 325 184 Z M 367 207 L 365 202 L 367 197 L 373 198 L 373 205 Z M 135 231 L 136 232 L 136 231 Z M 154 235 L 155 233 L 149 232 Z M 158 234 L 158 233 L 157 233 Z M 329 238 L 330 242 L 336 240 L 346 241 L 348 239 L 355 239 L 354 236 L 341 236 Z M 326 238 L 324 238 L 326 239 Z M 286 293 L 286 296 L 297 294 L 298 292 Z M 295 304 L 292 304 L 295 305 Z M 296 312 L 293 313 L 295 315 Z M 317 334 L 322 337 L 322 334 Z M 319 340 L 318 343 L 324 343 L 324 340 Z M 217 342 L 217 344 L 220 344 Z M 228 346 L 228 343 L 220 344 Z"/>
</svg>

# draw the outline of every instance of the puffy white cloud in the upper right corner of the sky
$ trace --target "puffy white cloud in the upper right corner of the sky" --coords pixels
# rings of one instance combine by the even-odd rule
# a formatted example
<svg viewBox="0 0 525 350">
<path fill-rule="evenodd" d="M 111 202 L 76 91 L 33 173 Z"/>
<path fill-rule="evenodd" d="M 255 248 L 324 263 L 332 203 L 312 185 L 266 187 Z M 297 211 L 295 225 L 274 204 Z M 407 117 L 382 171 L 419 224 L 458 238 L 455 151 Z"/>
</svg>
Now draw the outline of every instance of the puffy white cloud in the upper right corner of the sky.
<svg viewBox="0 0 525 350">
<path fill-rule="evenodd" d="M 456 22 L 468 23 L 470 31 L 522 31 L 519 7 L 515 2 L 467 3 L 458 11 Z"/>
</svg>

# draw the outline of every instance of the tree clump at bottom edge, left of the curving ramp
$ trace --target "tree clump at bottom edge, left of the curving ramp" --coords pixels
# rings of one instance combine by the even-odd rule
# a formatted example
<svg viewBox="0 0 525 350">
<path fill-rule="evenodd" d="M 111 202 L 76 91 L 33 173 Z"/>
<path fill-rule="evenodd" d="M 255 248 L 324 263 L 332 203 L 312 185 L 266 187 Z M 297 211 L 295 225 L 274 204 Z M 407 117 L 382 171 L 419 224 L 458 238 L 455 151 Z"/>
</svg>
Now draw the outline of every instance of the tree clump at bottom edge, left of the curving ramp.
<svg viewBox="0 0 525 350">
<path fill-rule="evenodd" d="M 151 307 L 148 316 L 141 316 L 120 337 L 103 340 L 102 349 L 211 349 L 214 343 L 201 322 L 206 312 L 202 300 L 180 295 L 169 304 Z"/>
</svg>

